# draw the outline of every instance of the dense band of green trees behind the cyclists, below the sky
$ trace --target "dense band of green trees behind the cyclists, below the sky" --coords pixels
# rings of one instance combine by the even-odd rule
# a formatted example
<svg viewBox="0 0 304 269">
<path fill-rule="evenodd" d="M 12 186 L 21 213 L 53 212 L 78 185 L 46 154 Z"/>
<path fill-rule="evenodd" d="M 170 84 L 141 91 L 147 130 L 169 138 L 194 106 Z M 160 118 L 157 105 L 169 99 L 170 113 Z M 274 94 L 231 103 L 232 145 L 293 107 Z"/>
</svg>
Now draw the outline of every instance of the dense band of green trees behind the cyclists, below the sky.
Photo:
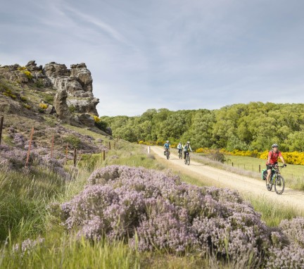
<svg viewBox="0 0 304 269">
<path fill-rule="evenodd" d="M 129 142 L 185 142 L 193 149 L 264 151 L 274 143 L 281 151 L 304 150 L 304 104 L 251 102 L 220 109 L 170 111 L 148 109 L 142 115 L 103 116 L 113 137 Z"/>
</svg>

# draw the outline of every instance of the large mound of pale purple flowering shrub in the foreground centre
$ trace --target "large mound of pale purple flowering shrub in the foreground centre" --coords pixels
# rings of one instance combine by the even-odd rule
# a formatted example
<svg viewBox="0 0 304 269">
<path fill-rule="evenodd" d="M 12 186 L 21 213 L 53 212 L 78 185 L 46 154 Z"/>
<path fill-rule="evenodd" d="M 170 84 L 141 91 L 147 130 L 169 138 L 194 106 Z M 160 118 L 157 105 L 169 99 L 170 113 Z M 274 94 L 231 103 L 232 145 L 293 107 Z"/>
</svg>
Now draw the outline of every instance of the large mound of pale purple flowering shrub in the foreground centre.
<svg viewBox="0 0 304 269">
<path fill-rule="evenodd" d="M 165 249 L 234 257 L 271 246 L 260 214 L 237 192 L 184 184 L 157 170 L 110 165 L 61 205 L 68 230 L 87 238 L 129 238 L 140 251 Z"/>
</svg>

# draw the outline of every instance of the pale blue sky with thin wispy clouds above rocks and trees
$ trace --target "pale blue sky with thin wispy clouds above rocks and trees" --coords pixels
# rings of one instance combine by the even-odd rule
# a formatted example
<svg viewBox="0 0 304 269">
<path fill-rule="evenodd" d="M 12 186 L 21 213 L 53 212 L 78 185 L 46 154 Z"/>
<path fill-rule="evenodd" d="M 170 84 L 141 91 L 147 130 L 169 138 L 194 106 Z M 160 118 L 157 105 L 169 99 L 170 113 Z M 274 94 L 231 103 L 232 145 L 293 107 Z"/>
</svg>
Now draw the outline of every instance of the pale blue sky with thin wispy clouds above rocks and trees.
<svg viewBox="0 0 304 269">
<path fill-rule="evenodd" d="M 86 63 L 99 115 L 303 103 L 303 0 L 9 0 L 0 65 Z"/>
</svg>

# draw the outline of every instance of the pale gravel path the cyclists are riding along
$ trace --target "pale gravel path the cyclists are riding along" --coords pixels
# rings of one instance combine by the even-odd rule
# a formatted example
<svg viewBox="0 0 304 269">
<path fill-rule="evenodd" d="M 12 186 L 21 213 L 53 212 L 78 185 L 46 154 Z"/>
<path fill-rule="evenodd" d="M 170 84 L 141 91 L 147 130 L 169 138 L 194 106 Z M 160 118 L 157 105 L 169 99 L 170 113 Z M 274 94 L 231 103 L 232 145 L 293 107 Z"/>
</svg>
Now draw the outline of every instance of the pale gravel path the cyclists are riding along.
<svg viewBox="0 0 304 269">
<path fill-rule="evenodd" d="M 299 213 L 304 212 L 304 192 L 285 187 L 284 193 L 278 195 L 274 192 L 274 187 L 272 187 L 272 192 L 267 191 L 264 180 L 237 175 L 196 161 L 191 161 L 190 165 L 185 165 L 184 160 L 180 160 L 175 151 L 170 154 L 170 159 L 167 160 L 163 154 L 163 148 L 158 146 L 151 146 L 151 151 L 168 168 L 195 177 L 208 185 L 236 189 L 241 194 L 270 199 L 279 204 L 292 206 Z"/>
</svg>

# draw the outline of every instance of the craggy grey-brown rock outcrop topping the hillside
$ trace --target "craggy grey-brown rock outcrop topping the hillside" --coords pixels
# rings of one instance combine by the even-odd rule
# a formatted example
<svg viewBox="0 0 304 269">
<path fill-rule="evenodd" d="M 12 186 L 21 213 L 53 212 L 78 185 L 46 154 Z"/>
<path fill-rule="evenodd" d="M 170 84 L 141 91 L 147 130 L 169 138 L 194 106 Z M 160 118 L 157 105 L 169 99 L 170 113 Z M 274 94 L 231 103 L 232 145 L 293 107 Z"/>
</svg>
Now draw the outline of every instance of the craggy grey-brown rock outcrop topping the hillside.
<svg viewBox="0 0 304 269">
<path fill-rule="evenodd" d="M 0 68 L 0 77 L 11 82 L 18 82 L 20 94 L 23 94 L 25 84 L 30 82 L 34 83 L 35 89 L 44 93 L 46 93 L 45 87 L 52 88 L 48 89 L 51 92 L 56 89 L 53 106 L 49 105 L 44 113 L 52 114 L 56 111 L 58 118 L 70 124 L 94 127 L 92 115 L 98 116 L 96 106 L 99 104 L 99 99 L 93 95 L 93 80 L 85 63 L 72 64 L 70 69 L 64 64 L 55 62 L 47 63 L 44 68 L 42 65 L 37 66 L 35 61 L 29 61 L 25 66 L 4 65 Z M 30 85 L 26 88 L 28 87 Z M 2 89 L 2 92 L 5 90 Z M 9 92 L 6 93 L 6 95 L 9 94 Z M 20 101 L 20 94 L 14 99 L 17 98 Z M 13 98 L 13 94 L 11 96 Z M 40 102 L 44 103 L 43 100 Z M 7 105 L 5 110 L 19 111 L 17 104 L 18 102 Z M 31 109 L 29 106 L 27 108 Z"/>
</svg>

